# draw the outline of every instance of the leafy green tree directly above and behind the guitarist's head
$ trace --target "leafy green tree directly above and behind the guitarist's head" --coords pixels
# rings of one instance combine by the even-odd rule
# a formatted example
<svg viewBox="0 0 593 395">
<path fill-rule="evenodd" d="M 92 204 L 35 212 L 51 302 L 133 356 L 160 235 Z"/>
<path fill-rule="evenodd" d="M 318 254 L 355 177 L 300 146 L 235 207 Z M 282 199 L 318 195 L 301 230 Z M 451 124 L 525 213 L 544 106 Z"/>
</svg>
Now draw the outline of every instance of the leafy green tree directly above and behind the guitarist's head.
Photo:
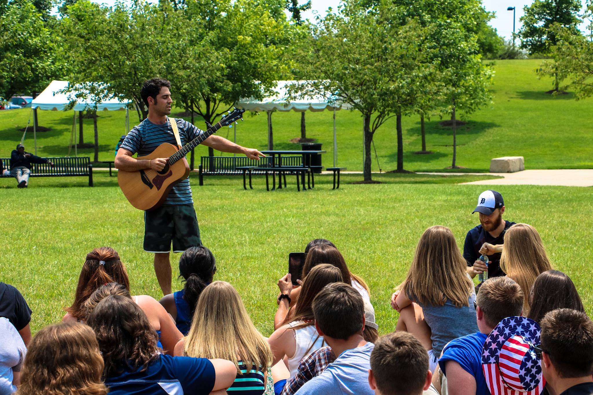
<svg viewBox="0 0 593 395">
<path fill-rule="evenodd" d="M 71 86 L 87 89 L 95 102 L 132 99 L 143 120 L 148 108 L 140 97 L 142 83 L 190 59 L 174 52 L 186 23 L 166 2 L 118 2 L 114 8 L 75 2 L 60 21 Z"/>
</svg>

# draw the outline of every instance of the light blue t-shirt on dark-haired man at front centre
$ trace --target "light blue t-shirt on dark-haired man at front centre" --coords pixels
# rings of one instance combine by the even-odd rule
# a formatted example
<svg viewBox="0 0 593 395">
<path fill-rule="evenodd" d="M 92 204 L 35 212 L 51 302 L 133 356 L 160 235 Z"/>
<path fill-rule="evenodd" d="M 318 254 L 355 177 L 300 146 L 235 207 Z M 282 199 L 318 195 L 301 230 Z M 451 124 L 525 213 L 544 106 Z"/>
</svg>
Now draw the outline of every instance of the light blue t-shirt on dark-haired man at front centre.
<svg viewBox="0 0 593 395">
<path fill-rule="evenodd" d="M 373 343 L 342 352 L 336 361 L 297 391 L 298 395 L 375 395 L 369 386 Z"/>
</svg>

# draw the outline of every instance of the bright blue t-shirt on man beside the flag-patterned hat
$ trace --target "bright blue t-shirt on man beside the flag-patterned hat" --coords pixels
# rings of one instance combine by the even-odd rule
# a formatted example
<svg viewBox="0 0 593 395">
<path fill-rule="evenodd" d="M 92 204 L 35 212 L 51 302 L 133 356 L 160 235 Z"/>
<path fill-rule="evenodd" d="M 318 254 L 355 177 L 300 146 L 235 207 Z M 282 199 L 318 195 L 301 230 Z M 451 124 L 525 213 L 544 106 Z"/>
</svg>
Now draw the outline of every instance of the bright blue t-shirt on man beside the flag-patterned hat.
<svg viewBox="0 0 593 395">
<path fill-rule="evenodd" d="M 473 375 L 476 378 L 476 395 L 490 395 L 482 370 L 482 347 L 486 337 L 484 333 L 477 332 L 455 339 L 445 347 L 443 356 L 439 359 L 439 366 L 445 376 L 447 361 L 457 362 L 463 370 Z"/>
</svg>

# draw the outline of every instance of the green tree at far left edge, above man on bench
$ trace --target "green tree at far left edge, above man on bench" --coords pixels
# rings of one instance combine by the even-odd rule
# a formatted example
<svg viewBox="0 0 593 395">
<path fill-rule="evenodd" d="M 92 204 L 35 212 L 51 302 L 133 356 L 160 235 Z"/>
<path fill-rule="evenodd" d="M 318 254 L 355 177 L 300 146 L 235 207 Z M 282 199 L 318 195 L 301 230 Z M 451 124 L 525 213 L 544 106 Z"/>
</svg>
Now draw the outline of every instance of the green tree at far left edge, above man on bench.
<svg viewBox="0 0 593 395">
<path fill-rule="evenodd" d="M 0 97 L 41 91 L 58 67 L 42 15 L 28 0 L 12 1 L 0 14 L 0 31 Z"/>
</svg>

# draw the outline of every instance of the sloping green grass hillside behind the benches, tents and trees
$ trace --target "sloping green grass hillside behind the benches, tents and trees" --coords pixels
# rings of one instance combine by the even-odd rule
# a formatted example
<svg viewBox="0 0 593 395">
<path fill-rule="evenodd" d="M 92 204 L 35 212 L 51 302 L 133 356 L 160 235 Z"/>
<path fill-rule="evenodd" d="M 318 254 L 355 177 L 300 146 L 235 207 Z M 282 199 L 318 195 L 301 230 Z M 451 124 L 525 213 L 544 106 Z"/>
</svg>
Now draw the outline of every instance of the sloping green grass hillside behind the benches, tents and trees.
<svg viewBox="0 0 593 395">
<path fill-rule="evenodd" d="M 592 168 L 591 99 L 575 101 L 573 94 L 551 97 L 551 79 L 537 79 L 534 69 L 540 60 L 499 60 L 492 86 L 494 102 L 474 114 L 461 117 L 467 125 L 458 129 L 457 165 L 465 171 L 484 172 L 490 159 L 522 155 L 527 169 Z M 174 87 L 173 87 L 174 96 Z M 175 111 L 174 111 L 175 112 Z M 350 170 L 362 170 L 362 118 L 359 113 L 338 111 L 338 164 Z M 30 109 L 0 111 L 0 156 L 8 156 L 20 141 Z M 98 118 L 100 160 L 113 160 L 114 147 L 125 130 L 124 111 L 101 111 Z M 188 118 L 186 118 L 188 119 Z M 130 125 L 137 123 L 130 111 Z M 300 136 L 300 114 L 272 115 L 275 149 L 299 149 L 290 139 Z M 420 150 L 419 117 L 407 117 L 404 128 L 404 167 L 411 171 L 443 171 L 451 165 L 452 136 L 449 128 L 439 126 L 438 117 L 426 122 L 427 149 L 431 155 L 415 155 Z M 200 118 L 195 123 L 203 127 Z M 38 153 L 42 156 L 65 156 L 72 130 L 72 111 L 39 111 L 39 124 L 52 130 L 37 133 Z M 84 141 L 93 142 L 93 120 L 84 120 Z M 221 136 L 233 139 L 232 129 L 221 129 Z M 266 115 L 246 115 L 238 125 L 237 143 L 248 147 L 267 147 Z M 332 165 L 333 123 L 330 111 L 307 113 L 307 136 L 323 143 L 327 150 L 323 163 Z M 33 152 L 33 131 L 27 132 L 27 150 Z M 381 169 L 396 167 L 395 120 L 389 120 L 375 134 L 375 146 Z M 74 152 L 74 149 L 72 150 Z M 205 147 L 198 155 L 207 155 Z M 79 150 L 79 155 L 93 157 L 93 149 Z M 74 153 L 72 153 L 74 155 Z M 228 154 L 225 154 L 228 155 Z M 196 165 L 197 167 L 197 165 Z M 378 171 L 373 152 L 372 169 Z"/>
</svg>

